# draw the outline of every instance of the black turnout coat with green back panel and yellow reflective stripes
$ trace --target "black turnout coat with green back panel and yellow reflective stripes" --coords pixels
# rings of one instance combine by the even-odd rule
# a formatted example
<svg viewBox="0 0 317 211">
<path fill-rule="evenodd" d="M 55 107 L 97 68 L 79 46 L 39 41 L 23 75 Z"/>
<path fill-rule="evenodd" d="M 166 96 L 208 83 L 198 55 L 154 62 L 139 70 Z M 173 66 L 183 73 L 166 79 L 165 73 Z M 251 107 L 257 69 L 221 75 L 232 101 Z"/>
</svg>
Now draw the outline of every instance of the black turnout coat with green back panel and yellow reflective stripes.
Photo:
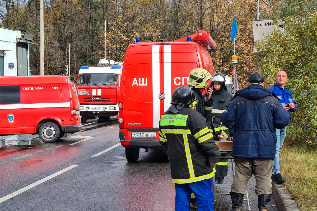
<svg viewBox="0 0 317 211">
<path fill-rule="evenodd" d="M 219 162 L 220 152 L 204 117 L 187 107 L 170 110 L 159 121 L 159 142 L 169 158 L 172 182 L 193 183 L 213 177 L 215 168 L 210 162 Z"/>
</svg>

